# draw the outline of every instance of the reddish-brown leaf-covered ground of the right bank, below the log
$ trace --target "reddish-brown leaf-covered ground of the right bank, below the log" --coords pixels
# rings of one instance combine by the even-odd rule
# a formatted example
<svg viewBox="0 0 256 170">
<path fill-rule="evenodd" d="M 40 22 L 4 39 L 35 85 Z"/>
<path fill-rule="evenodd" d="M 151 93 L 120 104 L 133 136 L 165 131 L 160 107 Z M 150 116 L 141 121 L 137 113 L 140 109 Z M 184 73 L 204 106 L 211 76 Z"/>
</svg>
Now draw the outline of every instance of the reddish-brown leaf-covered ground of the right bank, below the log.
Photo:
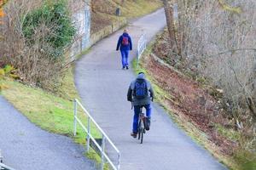
<svg viewBox="0 0 256 170">
<path fill-rule="evenodd" d="M 145 60 L 145 66 L 157 85 L 169 94 L 169 97 L 163 99 L 164 105 L 174 114 L 185 116 L 189 122 L 207 133 L 208 139 L 224 154 L 232 154 L 235 143 L 224 139 L 215 128 L 215 124 L 228 122 L 218 110 L 218 101 L 201 89 L 197 82 L 161 65 L 151 55 Z"/>
</svg>

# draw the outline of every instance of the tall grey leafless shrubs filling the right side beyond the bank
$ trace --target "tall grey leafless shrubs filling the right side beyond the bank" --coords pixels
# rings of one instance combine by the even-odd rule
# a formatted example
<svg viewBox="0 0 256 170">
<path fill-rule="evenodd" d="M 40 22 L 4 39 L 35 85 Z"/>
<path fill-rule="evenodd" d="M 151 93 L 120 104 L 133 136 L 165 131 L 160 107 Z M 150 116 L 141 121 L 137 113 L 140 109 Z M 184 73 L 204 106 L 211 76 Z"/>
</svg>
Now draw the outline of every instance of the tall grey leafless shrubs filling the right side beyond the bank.
<svg viewBox="0 0 256 170">
<path fill-rule="evenodd" d="M 256 140 L 256 2 L 180 0 L 175 38 L 187 68 L 224 90 L 234 123 Z M 175 53 L 175 51 L 174 51 Z M 177 54 L 176 54 L 177 55 Z"/>
</svg>

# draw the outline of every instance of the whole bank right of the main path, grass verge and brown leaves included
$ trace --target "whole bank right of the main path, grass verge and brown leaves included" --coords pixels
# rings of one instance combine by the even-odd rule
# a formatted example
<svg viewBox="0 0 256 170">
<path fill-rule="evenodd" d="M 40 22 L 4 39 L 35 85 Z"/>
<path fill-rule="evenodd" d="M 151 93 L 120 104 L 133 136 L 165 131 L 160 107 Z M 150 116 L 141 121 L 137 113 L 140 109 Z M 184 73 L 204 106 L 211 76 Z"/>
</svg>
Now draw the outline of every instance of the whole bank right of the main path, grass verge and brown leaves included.
<svg viewBox="0 0 256 170">
<path fill-rule="evenodd" d="M 184 61 L 172 55 L 168 38 L 167 31 L 160 34 L 141 62 L 154 82 L 160 104 L 220 161 L 232 169 L 255 169 L 256 157 L 241 148 L 241 133 L 220 102 L 221 90 L 186 69 Z"/>
</svg>

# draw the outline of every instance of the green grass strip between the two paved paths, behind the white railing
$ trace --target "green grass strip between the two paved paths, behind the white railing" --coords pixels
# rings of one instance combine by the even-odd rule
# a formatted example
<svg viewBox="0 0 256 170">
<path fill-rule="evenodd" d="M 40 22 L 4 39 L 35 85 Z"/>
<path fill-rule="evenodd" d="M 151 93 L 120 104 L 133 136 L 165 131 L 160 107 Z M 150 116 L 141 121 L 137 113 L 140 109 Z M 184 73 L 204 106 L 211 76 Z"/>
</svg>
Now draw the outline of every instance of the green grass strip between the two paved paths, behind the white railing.
<svg viewBox="0 0 256 170">
<path fill-rule="evenodd" d="M 80 98 L 74 85 L 72 67 L 66 71 L 58 94 L 45 92 L 41 88 L 32 88 L 10 78 L 1 79 L 0 84 L 7 87 L 1 91 L 1 94 L 30 122 L 50 133 L 68 136 L 78 144 L 86 144 L 86 134 L 79 123 L 77 135 L 73 136 L 73 99 Z M 84 115 L 81 108 L 78 109 L 78 116 L 87 127 L 88 117 Z M 96 126 L 90 123 L 90 127 L 93 137 L 101 139 L 102 135 Z M 101 157 L 96 154 L 95 150 L 90 148 L 90 152 L 85 153 L 85 156 L 96 161 L 99 166 Z M 108 169 L 108 164 L 105 165 L 105 169 Z"/>
</svg>

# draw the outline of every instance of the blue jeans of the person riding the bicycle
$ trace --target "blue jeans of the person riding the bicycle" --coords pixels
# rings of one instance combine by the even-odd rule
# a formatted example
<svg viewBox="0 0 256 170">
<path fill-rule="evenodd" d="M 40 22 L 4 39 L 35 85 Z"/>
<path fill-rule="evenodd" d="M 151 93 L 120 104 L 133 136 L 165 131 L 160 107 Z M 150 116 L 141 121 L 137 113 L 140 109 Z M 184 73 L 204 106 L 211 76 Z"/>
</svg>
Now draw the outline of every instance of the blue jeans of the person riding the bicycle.
<svg viewBox="0 0 256 170">
<path fill-rule="evenodd" d="M 133 116 L 133 123 L 132 123 L 132 132 L 137 133 L 137 124 L 139 120 L 139 113 L 141 105 L 134 105 L 134 116 Z M 143 105 L 143 107 L 146 109 L 146 116 L 151 117 L 151 106 L 149 105 Z"/>
</svg>

